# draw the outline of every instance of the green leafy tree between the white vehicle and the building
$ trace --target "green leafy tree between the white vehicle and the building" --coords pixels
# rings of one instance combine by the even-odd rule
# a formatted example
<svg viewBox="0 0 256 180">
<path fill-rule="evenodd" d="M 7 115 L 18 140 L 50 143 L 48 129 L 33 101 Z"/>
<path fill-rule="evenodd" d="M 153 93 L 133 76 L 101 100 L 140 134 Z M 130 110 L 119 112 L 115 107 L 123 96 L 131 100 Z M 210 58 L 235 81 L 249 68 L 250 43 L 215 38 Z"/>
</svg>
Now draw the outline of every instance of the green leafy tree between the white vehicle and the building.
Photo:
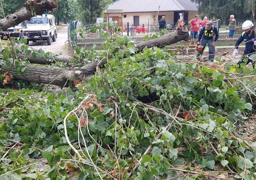
<svg viewBox="0 0 256 180">
<path fill-rule="evenodd" d="M 112 0 L 78 0 L 78 19 L 82 23 L 96 23 Z"/>
</svg>

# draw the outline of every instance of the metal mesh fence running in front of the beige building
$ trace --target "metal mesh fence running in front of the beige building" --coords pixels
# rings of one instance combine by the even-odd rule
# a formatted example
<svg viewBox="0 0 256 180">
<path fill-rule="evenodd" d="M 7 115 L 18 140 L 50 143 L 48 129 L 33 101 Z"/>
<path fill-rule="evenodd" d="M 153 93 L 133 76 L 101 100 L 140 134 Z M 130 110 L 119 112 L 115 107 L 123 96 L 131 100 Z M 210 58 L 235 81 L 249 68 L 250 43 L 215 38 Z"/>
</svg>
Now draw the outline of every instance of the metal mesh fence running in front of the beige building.
<svg viewBox="0 0 256 180">
<path fill-rule="evenodd" d="M 236 21 L 236 33 L 240 33 L 242 23 L 244 21 L 237 20 Z M 185 25 L 188 25 L 188 22 L 184 22 Z M 215 23 L 218 27 L 219 33 L 223 35 L 228 34 L 228 24 L 230 21 L 228 20 L 220 20 L 219 22 Z M 135 26 L 136 25 L 136 26 Z M 175 30 L 175 23 L 166 22 L 166 28 L 168 31 Z M 77 33 L 72 33 L 74 30 L 77 30 Z M 86 33 L 82 33 L 85 32 Z M 108 36 L 113 34 L 117 34 L 119 36 L 125 37 L 129 36 L 132 37 L 135 41 L 140 42 L 144 41 L 146 35 L 151 35 L 152 32 L 159 30 L 159 24 L 153 22 L 152 20 L 148 19 L 145 21 L 140 21 L 137 24 L 133 24 L 131 22 L 123 22 L 123 23 L 86 23 L 86 25 L 80 25 L 77 23 L 70 23 L 69 25 L 69 37 L 70 41 L 73 44 L 101 44 L 104 43 L 105 40 L 102 37 L 103 33 L 107 33 Z"/>
</svg>

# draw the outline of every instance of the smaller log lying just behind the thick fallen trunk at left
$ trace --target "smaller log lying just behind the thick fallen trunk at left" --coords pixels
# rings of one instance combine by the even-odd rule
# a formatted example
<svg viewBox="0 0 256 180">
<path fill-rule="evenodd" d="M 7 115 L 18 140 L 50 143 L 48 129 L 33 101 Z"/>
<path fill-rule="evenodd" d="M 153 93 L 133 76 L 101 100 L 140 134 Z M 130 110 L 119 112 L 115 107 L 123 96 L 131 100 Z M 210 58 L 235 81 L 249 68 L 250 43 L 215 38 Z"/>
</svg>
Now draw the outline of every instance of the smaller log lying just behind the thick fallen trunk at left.
<svg viewBox="0 0 256 180">
<path fill-rule="evenodd" d="M 68 63 L 72 59 L 71 56 L 64 56 L 64 55 L 56 55 L 56 56 L 51 56 L 49 58 L 42 58 L 37 56 L 36 58 L 34 58 L 33 56 L 26 55 L 26 54 L 18 54 L 18 58 L 27 59 L 30 63 L 34 63 L 34 64 L 51 64 L 55 62 Z"/>
</svg>

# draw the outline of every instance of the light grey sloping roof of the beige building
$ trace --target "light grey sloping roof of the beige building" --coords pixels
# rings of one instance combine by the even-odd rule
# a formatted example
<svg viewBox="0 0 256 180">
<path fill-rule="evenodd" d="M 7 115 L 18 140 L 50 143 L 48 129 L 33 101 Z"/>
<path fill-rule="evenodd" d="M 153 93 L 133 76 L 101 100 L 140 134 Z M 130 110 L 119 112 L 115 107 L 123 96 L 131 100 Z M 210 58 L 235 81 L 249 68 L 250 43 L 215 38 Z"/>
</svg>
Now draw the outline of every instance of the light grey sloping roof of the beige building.
<svg viewBox="0 0 256 180">
<path fill-rule="evenodd" d="M 123 10 L 124 13 L 158 11 L 197 11 L 198 4 L 190 0 L 118 0 L 110 4 L 107 12 Z"/>
</svg>

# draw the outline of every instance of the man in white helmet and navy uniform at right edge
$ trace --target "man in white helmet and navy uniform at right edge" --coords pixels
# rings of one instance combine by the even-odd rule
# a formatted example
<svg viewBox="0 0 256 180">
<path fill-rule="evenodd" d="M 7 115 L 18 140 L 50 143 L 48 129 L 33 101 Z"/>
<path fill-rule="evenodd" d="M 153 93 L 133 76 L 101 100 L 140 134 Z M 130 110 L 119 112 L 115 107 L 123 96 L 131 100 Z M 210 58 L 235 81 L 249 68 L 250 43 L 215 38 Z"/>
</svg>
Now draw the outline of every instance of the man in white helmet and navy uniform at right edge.
<svg viewBox="0 0 256 180">
<path fill-rule="evenodd" d="M 255 50 L 256 50 L 255 31 L 254 31 L 253 23 L 250 20 L 246 20 L 242 25 L 242 29 L 244 30 L 244 32 L 242 33 L 240 38 L 236 41 L 235 49 L 232 53 L 232 57 L 235 57 L 235 55 L 238 54 L 239 44 L 242 43 L 243 41 L 245 42 L 246 49 L 244 50 L 243 57 L 242 57 L 241 61 L 238 62 L 239 67 L 240 67 L 241 63 L 245 63 L 243 60 L 247 56 L 250 57 L 253 53 L 255 53 Z M 253 68 L 255 68 L 255 61 L 248 58 L 248 61 L 246 64 L 248 64 L 250 62 L 252 63 Z"/>
</svg>

